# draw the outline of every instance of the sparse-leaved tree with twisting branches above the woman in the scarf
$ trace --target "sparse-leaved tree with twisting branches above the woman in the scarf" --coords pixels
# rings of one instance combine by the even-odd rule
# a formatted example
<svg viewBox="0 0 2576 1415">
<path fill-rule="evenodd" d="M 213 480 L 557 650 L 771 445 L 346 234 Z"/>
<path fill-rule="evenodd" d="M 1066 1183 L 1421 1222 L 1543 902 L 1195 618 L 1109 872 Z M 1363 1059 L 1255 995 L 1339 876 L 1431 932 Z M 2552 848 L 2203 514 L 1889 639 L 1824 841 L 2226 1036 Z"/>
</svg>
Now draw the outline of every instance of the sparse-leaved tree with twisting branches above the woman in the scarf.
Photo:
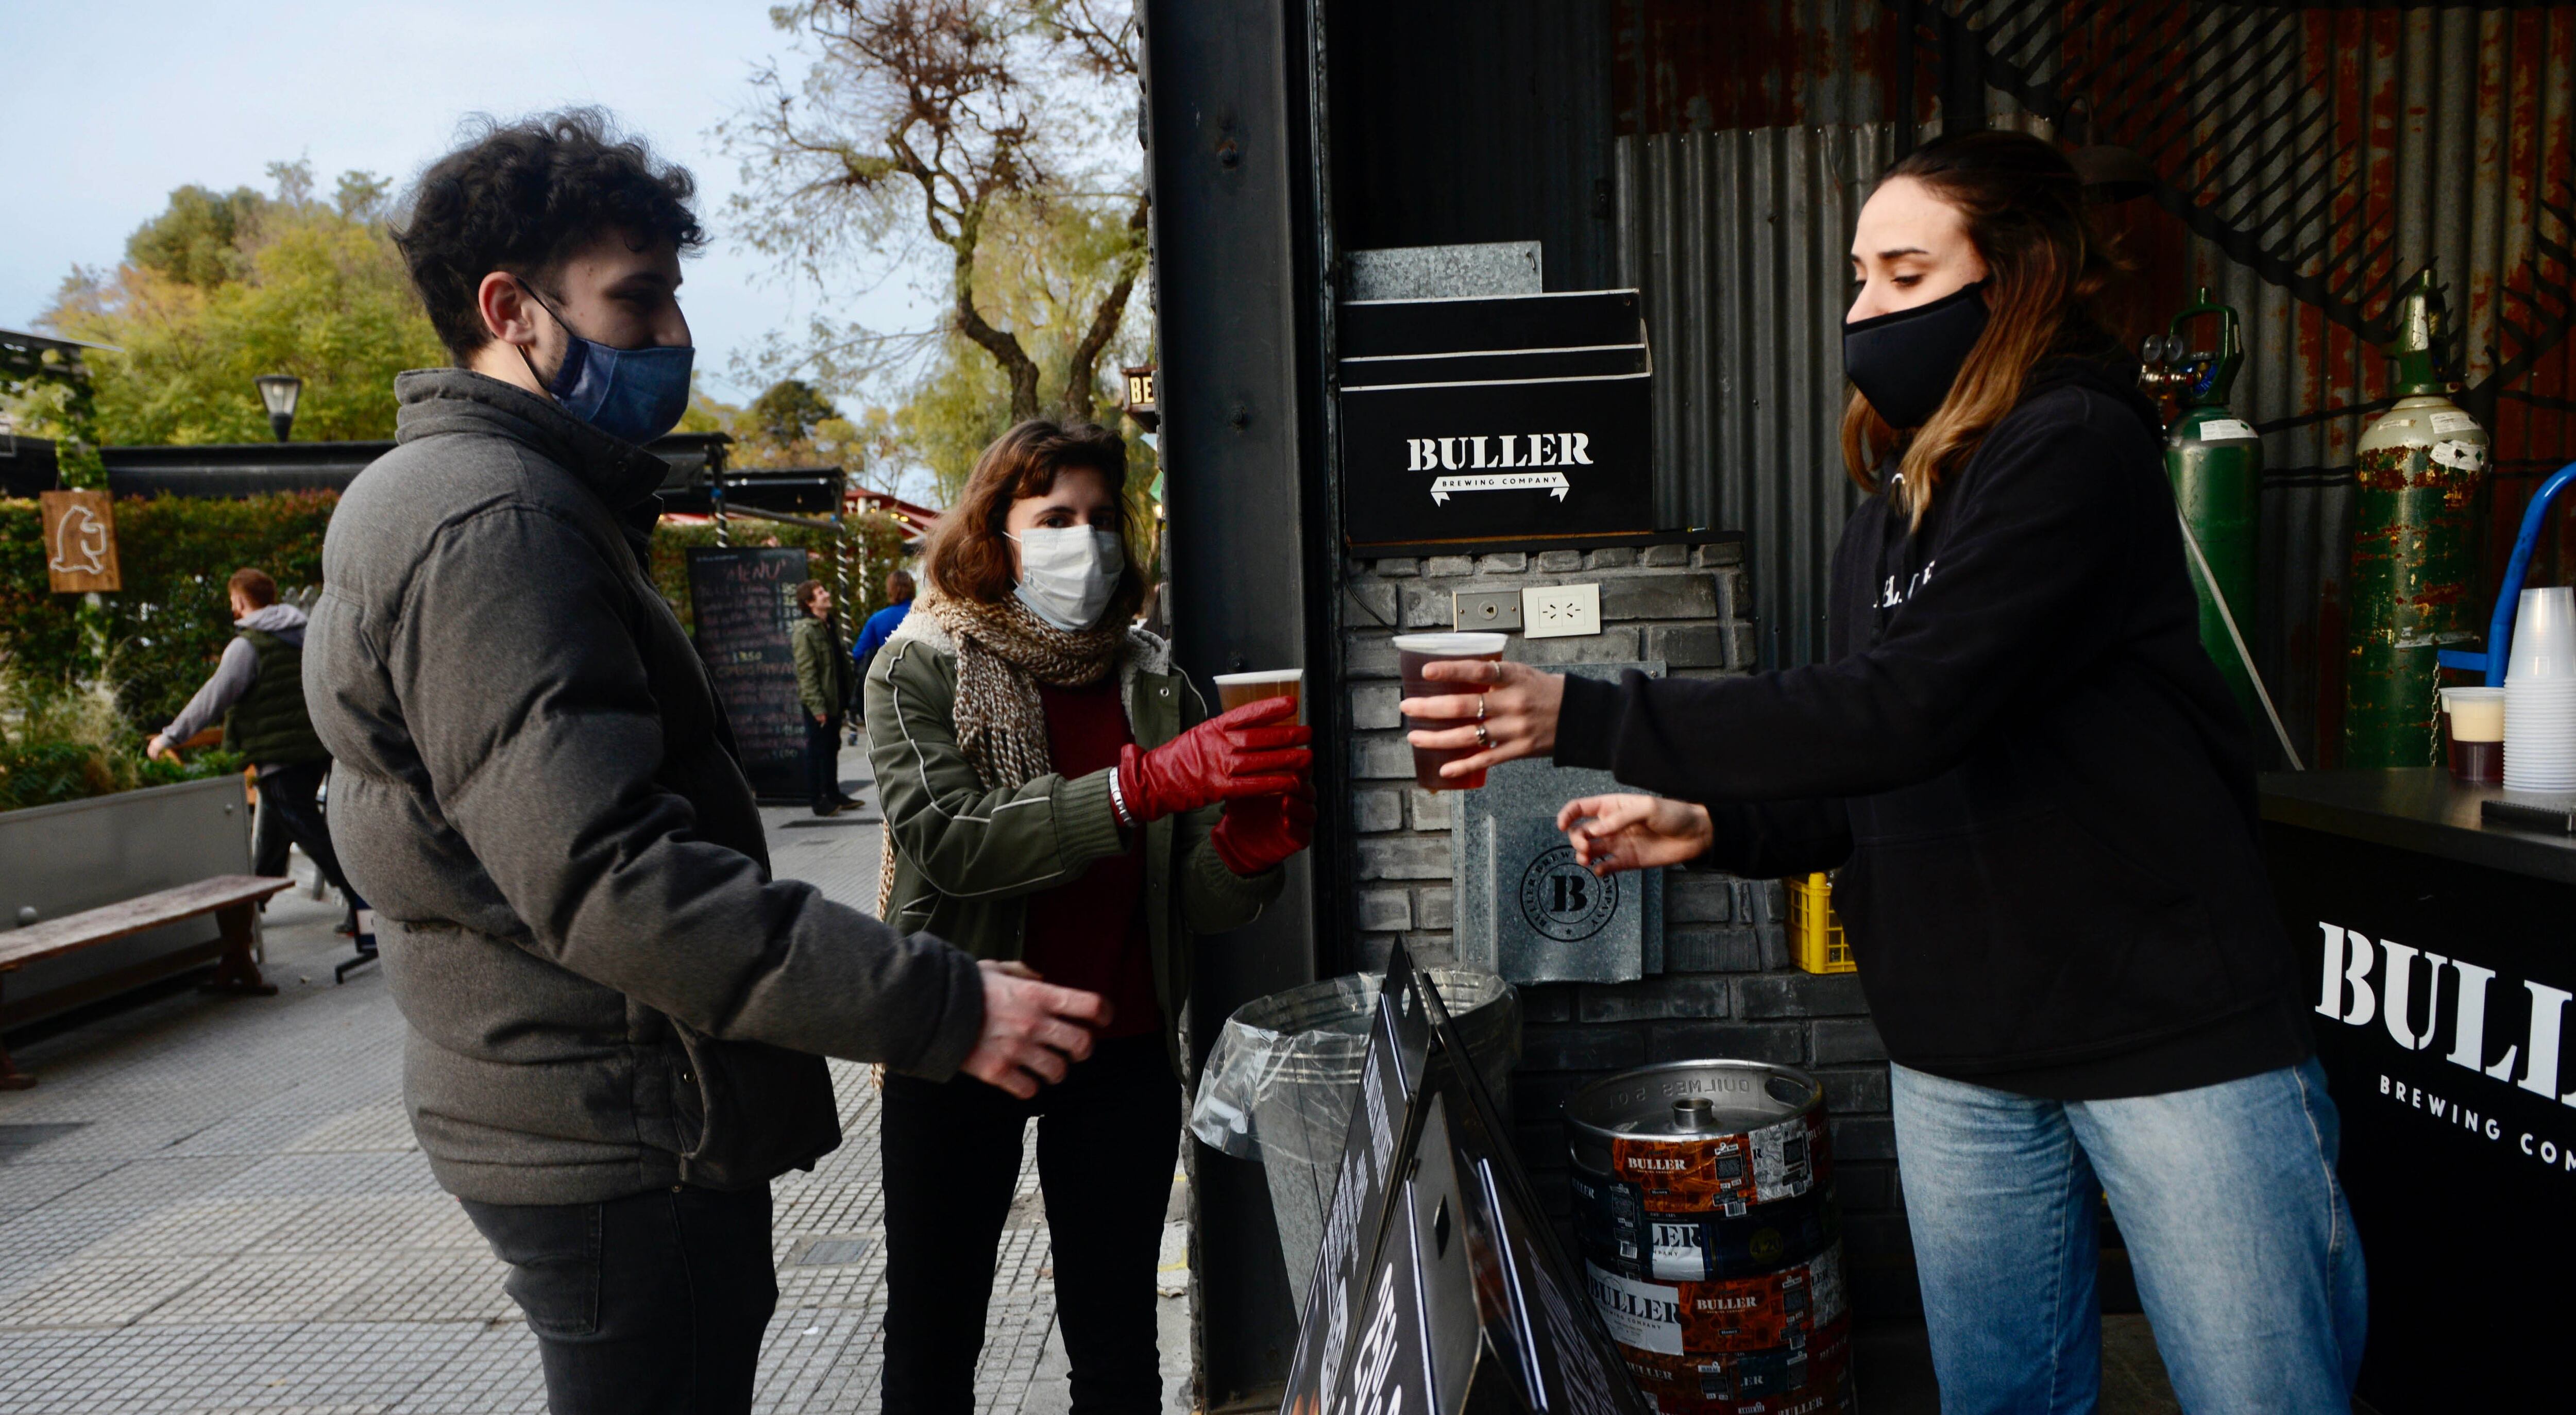
<svg viewBox="0 0 2576 1415">
<path fill-rule="evenodd" d="M 951 330 L 992 358 L 1012 420 L 1041 412 L 1056 366 L 1061 415 L 1090 418 L 1144 271 L 1141 173 L 1118 180 L 1084 142 L 1097 98 L 1133 101 L 1133 15 L 1121 0 L 799 0 L 773 18 L 814 64 L 793 88 L 755 75 L 765 103 L 724 129 L 752 245 L 822 281 L 842 247 L 927 235 L 948 247 Z M 1020 235 L 994 247 L 1002 229 Z M 1023 268 L 1033 229 L 1082 232 L 1082 271 Z"/>
</svg>

